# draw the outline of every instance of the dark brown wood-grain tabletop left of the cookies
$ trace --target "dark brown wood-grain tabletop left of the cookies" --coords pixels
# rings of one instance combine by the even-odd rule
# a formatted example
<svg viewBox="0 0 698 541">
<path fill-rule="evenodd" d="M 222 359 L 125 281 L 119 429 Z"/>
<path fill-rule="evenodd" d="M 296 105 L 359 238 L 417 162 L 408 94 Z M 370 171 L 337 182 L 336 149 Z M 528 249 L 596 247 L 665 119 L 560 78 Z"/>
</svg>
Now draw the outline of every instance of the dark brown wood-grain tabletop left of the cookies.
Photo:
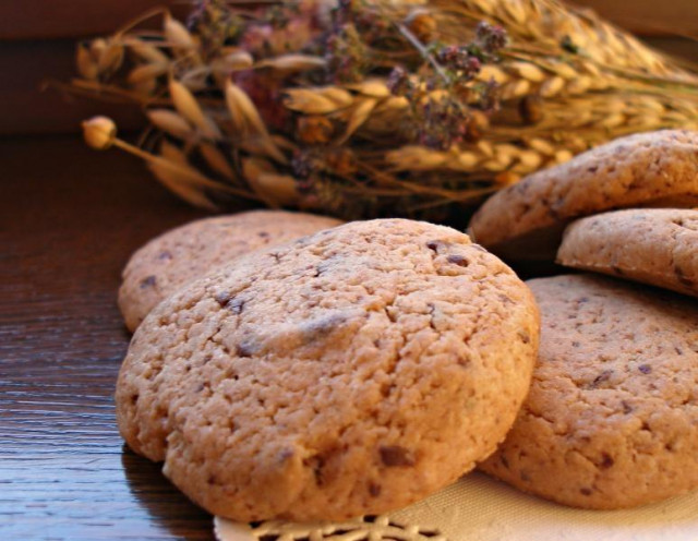
<svg viewBox="0 0 698 541">
<path fill-rule="evenodd" d="M 117 152 L 0 140 L 0 540 L 213 539 L 212 517 L 124 448 L 119 274 L 201 216 Z"/>
</svg>

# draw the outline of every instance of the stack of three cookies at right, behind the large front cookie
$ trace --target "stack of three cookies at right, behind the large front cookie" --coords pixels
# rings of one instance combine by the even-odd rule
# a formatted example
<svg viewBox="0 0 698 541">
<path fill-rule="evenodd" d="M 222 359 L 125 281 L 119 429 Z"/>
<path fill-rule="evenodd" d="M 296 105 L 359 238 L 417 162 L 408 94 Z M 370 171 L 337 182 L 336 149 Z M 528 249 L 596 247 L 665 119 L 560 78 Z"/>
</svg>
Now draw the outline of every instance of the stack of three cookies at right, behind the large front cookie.
<svg viewBox="0 0 698 541">
<path fill-rule="evenodd" d="M 698 488 L 697 202 L 698 134 L 664 131 L 532 175 L 473 216 L 471 235 L 505 259 L 556 253 L 562 265 L 654 286 L 591 274 L 528 281 L 542 317 L 538 365 L 481 469 L 589 508 Z"/>
</svg>

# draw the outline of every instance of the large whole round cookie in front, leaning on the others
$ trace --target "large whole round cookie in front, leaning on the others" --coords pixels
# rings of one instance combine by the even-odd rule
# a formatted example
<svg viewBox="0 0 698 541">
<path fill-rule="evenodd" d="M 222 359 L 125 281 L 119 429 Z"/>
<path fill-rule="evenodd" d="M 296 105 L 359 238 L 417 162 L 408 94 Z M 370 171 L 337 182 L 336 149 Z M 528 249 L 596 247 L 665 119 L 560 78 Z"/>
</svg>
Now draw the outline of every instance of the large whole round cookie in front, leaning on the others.
<svg viewBox="0 0 698 541">
<path fill-rule="evenodd" d="M 240 521 L 408 505 L 504 438 L 528 390 L 526 285 L 454 229 L 357 221 L 249 254 L 139 327 L 117 419 L 194 502 Z"/>
</svg>

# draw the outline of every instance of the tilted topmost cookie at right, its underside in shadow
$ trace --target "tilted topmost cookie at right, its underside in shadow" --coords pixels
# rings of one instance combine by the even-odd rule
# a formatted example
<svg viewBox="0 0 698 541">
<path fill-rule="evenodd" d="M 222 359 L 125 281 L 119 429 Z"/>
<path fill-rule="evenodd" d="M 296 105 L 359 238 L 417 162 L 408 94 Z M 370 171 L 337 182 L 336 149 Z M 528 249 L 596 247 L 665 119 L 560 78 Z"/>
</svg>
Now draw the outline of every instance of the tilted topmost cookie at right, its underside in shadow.
<svg viewBox="0 0 698 541">
<path fill-rule="evenodd" d="M 617 139 L 505 188 L 476 213 L 469 233 L 512 261 L 552 261 L 571 219 L 696 205 L 698 132 L 664 130 Z"/>
</svg>

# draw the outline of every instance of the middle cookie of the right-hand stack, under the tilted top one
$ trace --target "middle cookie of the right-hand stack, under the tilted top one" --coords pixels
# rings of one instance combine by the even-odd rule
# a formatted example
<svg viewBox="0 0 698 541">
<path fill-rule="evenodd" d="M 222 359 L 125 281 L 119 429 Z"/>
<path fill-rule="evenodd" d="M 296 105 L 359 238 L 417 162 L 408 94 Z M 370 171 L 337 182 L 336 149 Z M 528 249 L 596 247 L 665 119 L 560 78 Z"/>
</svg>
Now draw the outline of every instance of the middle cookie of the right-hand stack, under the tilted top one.
<svg viewBox="0 0 698 541">
<path fill-rule="evenodd" d="M 698 297 L 698 211 L 616 211 L 573 221 L 557 263 Z"/>
</svg>

